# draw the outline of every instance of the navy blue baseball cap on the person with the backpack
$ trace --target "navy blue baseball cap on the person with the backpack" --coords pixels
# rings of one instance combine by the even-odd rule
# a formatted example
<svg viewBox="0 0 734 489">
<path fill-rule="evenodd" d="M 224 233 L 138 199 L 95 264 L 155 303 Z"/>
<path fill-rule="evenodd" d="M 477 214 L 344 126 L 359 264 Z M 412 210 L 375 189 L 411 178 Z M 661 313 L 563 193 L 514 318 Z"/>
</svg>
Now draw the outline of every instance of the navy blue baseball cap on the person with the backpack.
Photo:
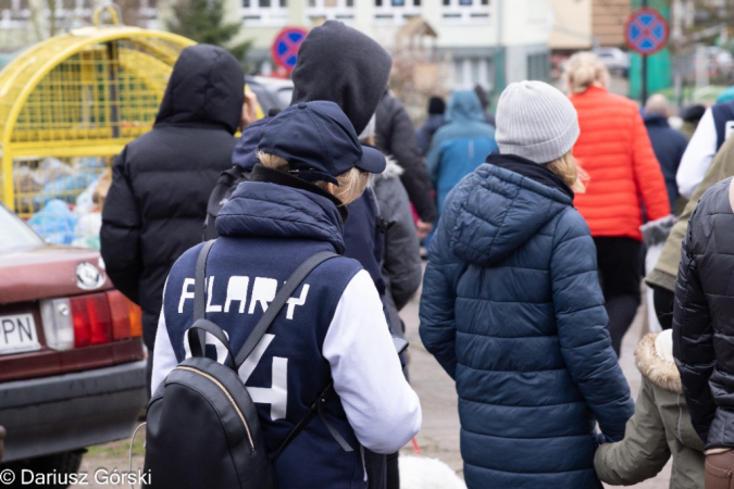
<svg viewBox="0 0 734 489">
<path fill-rule="evenodd" d="M 385 156 L 359 141 L 339 105 L 322 100 L 290 105 L 273 117 L 258 150 L 283 158 L 309 181 L 338 185 L 336 177 L 354 166 L 370 173 L 385 170 Z"/>
</svg>

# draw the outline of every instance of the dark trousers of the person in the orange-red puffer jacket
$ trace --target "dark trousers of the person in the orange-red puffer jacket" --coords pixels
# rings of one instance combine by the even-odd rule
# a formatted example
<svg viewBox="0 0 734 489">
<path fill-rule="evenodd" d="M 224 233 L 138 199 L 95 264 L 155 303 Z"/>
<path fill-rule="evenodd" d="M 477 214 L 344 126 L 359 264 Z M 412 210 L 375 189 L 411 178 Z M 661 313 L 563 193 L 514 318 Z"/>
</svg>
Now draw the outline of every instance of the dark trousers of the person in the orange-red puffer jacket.
<svg viewBox="0 0 734 489">
<path fill-rule="evenodd" d="M 622 338 L 630 329 L 640 302 L 640 246 L 626 237 L 594 238 L 599 281 L 609 315 L 609 336 L 619 358 Z"/>
</svg>

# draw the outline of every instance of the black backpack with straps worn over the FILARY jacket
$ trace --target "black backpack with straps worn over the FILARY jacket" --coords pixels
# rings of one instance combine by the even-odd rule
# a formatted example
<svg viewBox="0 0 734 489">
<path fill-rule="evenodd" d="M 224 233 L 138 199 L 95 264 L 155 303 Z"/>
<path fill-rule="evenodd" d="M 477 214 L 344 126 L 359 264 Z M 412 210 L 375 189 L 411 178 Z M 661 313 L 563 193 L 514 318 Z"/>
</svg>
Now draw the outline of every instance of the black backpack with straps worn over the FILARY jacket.
<svg viewBox="0 0 734 489">
<path fill-rule="evenodd" d="M 333 383 L 319 394 L 271 462 L 256 405 L 237 372 L 306 276 L 337 255 L 324 251 L 303 262 L 278 290 L 235 355 L 224 331 L 204 318 L 207 256 L 213 243 L 213 240 L 204 243 L 196 264 L 195 322 L 187 333 L 191 358 L 169 374 L 148 403 L 144 468 L 151 480 L 147 487 L 276 489 L 275 462 L 316 413 L 341 448 L 352 451 L 323 416 L 323 404 L 333 393 Z M 204 331 L 227 348 L 229 365 L 204 355 Z"/>
</svg>

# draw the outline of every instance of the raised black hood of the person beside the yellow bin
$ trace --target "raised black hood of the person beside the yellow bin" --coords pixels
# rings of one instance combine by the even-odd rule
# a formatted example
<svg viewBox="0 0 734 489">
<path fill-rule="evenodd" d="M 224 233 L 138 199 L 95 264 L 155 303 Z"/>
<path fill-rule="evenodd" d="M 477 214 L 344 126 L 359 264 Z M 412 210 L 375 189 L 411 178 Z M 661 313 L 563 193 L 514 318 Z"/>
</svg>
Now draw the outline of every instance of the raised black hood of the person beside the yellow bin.
<svg viewBox="0 0 734 489">
<path fill-rule="evenodd" d="M 234 135 L 244 93 L 245 75 L 235 57 L 216 46 L 190 46 L 173 66 L 155 124 L 215 124 Z"/>
</svg>

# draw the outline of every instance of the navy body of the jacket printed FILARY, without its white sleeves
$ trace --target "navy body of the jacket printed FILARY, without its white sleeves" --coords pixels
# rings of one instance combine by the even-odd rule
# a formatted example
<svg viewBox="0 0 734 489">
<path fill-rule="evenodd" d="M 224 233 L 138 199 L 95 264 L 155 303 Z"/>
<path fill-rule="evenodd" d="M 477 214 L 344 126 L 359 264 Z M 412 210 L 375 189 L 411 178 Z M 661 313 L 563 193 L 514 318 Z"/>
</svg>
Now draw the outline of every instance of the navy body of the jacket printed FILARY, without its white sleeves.
<svg viewBox="0 0 734 489">
<path fill-rule="evenodd" d="M 216 230 L 220 238 L 207 265 L 207 318 L 227 333 L 233 351 L 242 347 L 278 283 L 319 251 L 345 250 L 341 217 L 331 199 L 272 183 L 241 184 L 216 217 Z M 163 314 L 176 362 L 186 356 L 184 334 L 192 321 L 199 250 L 182 255 L 165 287 Z M 248 366 L 248 360 L 239 371 L 242 376 L 244 369 L 253 368 L 246 385 L 271 457 L 331 380 L 329 363 L 322 355 L 324 339 L 344 289 L 361 269 L 349 259 L 329 260 L 314 269 L 294 293 L 298 300 L 269 328 L 270 342 L 260 361 Z M 265 396 L 272 403 L 256 398 L 253 388 L 272 389 Z M 329 422 L 356 450 L 341 450 L 326 426 L 312 421 L 275 465 L 281 488 L 365 487 L 359 443 L 336 394 L 326 409 Z"/>
</svg>

